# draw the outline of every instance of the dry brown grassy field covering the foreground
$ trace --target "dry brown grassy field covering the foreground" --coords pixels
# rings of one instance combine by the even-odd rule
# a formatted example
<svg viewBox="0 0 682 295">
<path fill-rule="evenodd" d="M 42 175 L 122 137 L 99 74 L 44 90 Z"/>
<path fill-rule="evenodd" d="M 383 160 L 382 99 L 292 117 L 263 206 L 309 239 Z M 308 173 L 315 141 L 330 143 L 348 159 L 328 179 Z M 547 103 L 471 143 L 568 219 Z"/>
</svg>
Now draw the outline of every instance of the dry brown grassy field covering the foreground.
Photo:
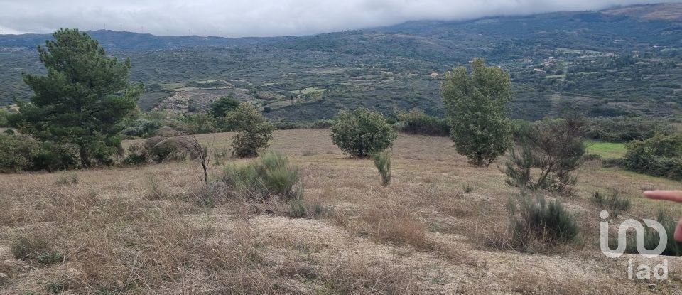
<svg viewBox="0 0 682 295">
<path fill-rule="evenodd" d="M 232 134 L 215 136 L 227 149 Z M 126 143 L 130 144 L 130 142 Z M 633 209 L 620 218 L 652 217 L 647 188 L 679 183 L 601 168 L 579 171 L 578 195 L 564 199 L 581 235 L 544 254 L 488 247 L 504 239 L 504 204 L 514 188 L 497 168 L 472 168 L 446 138 L 401 135 L 393 179 L 381 186 L 371 160 L 349 159 L 327 130 L 274 132 L 271 149 L 302 168 L 304 203 L 330 208 L 289 218 L 286 204 L 202 195 L 197 163 L 0 176 L 1 294 L 637 294 L 679 292 L 682 262 L 669 257 L 669 281 L 627 280 L 624 255 L 598 245 L 590 195 L 617 188 Z M 243 163 L 253 160 L 221 160 Z M 210 166 L 215 178 L 221 166 Z M 150 185 L 153 179 L 154 187 Z M 473 191 L 465 193 L 462 186 Z M 675 206 L 675 207 L 673 207 Z M 674 214 L 677 205 L 666 204 Z M 16 259 L 18 241 L 57 251 L 52 263 Z M 33 245 L 31 244 L 31 245 Z M 649 284 L 655 284 L 650 286 Z M 33 293 L 31 293 L 33 292 Z"/>
</svg>

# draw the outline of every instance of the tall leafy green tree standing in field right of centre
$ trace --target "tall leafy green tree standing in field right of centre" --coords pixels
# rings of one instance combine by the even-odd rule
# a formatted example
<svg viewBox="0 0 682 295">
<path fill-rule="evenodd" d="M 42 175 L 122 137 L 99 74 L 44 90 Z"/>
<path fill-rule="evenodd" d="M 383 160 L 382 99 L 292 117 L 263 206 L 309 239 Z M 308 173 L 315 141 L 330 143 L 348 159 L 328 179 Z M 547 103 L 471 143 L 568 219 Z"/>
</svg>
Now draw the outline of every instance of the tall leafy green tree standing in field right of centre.
<svg viewBox="0 0 682 295">
<path fill-rule="evenodd" d="M 486 67 L 475 58 L 472 73 L 465 67 L 445 75 L 440 85 L 445 114 L 459 154 L 474 166 L 489 166 L 511 146 L 508 104 L 513 97 L 511 79 L 501 68 Z"/>
</svg>

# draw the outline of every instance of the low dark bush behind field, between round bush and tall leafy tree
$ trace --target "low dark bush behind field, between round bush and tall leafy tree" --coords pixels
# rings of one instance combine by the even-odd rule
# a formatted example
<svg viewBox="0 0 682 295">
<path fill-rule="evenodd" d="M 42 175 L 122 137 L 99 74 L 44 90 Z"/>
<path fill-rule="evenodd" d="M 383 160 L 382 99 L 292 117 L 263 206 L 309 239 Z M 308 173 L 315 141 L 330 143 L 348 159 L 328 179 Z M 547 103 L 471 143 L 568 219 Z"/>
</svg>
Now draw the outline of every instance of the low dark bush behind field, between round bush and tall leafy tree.
<svg viewBox="0 0 682 295">
<path fill-rule="evenodd" d="M 431 136 L 450 135 L 450 125 L 448 125 L 447 120 L 431 117 L 421 109 L 398 112 L 396 119 L 398 122 L 394 126 L 399 132 Z"/>
</svg>

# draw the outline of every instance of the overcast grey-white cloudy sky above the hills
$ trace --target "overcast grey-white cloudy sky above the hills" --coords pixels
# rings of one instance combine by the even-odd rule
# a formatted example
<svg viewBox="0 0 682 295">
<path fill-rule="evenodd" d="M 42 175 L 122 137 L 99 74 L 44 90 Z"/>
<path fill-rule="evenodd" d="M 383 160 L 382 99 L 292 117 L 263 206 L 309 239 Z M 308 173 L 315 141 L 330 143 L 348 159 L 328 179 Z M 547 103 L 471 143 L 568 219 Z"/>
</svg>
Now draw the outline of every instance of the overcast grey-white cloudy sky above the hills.
<svg viewBox="0 0 682 295">
<path fill-rule="evenodd" d="M 599 10 L 656 2 L 663 1 L 0 0 L 0 30 L 3 34 L 51 33 L 58 28 L 80 28 L 160 36 L 302 36 L 389 26 L 404 21 Z"/>
</svg>

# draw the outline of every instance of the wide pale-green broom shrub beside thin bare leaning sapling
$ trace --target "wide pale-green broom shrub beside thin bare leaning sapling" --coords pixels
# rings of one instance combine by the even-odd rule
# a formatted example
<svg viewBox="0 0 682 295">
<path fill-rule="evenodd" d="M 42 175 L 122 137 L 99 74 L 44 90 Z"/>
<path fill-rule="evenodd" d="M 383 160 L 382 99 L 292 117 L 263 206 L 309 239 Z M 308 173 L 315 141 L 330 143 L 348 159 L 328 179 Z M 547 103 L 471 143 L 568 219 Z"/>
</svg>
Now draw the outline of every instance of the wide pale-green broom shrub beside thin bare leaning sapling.
<svg viewBox="0 0 682 295">
<path fill-rule="evenodd" d="M 298 166 L 276 152 L 264 154 L 260 161 L 247 166 L 227 166 L 222 181 L 245 198 L 271 198 L 275 195 L 285 200 L 303 198 Z"/>
</svg>

